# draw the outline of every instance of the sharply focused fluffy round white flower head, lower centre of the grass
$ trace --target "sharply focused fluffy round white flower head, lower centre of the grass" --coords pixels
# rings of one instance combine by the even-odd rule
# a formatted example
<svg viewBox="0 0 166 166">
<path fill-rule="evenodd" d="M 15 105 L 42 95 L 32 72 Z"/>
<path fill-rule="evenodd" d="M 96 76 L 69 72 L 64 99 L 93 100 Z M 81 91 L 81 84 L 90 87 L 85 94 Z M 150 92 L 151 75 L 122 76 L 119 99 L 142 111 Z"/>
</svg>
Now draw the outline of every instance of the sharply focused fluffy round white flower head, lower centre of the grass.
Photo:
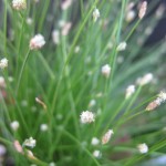
<svg viewBox="0 0 166 166">
<path fill-rule="evenodd" d="M 94 114 L 90 111 L 83 111 L 80 115 L 82 123 L 92 123 L 94 122 Z"/>
</svg>

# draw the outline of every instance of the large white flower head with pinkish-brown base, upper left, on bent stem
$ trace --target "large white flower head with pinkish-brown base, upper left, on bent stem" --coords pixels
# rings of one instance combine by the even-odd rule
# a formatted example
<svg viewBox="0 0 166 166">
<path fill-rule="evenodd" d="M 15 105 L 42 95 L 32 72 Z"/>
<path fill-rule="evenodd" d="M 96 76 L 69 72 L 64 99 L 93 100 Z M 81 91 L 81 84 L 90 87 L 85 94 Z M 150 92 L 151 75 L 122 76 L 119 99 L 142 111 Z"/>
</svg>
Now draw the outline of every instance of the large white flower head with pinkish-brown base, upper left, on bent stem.
<svg viewBox="0 0 166 166">
<path fill-rule="evenodd" d="M 38 50 L 45 44 L 44 37 L 42 34 L 37 34 L 30 40 L 30 49 Z"/>
</svg>

